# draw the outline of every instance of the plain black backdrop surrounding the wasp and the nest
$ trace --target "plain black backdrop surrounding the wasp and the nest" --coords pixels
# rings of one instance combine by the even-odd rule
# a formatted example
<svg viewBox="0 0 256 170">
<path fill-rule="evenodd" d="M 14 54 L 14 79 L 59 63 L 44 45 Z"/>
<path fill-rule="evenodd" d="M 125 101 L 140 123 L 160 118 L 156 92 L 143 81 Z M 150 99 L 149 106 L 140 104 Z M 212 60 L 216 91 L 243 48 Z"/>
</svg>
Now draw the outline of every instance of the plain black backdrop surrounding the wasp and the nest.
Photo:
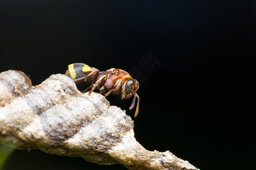
<svg viewBox="0 0 256 170">
<path fill-rule="evenodd" d="M 1 1 L 0 71 L 22 70 L 36 85 L 69 63 L 128 71 L 151 52 L 162 65 L 138 91 L 137 141 L 200 169 L 255 168 L 255 9 L 255 1 Z M 126 168 L 16 150 L 3 169 Z"/>
</svg>

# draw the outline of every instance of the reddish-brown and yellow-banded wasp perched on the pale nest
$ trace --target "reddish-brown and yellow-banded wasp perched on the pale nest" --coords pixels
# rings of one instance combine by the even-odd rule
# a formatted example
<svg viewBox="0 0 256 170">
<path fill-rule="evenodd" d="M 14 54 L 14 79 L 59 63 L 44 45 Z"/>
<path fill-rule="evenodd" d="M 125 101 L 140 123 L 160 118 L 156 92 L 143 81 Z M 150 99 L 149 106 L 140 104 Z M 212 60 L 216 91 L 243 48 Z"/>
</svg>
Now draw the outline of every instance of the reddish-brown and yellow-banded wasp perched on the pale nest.
<svg viewBox="0 0 256 170">
<path fill-rule="evenodd" d="M 68 65 L 65 75 L 69 76 L 77 86 L 90 84 L 88 88 L 82 91 L 84 93 L 91 88 L 88 93 L 89 95 L 97 88 L 102 95 L 118 95 L 121 96 L 122 100 L 133 96 L 129 110 L 134 108 L 137 98 L 137 108 L 134 117 L 138 116 L 139 95 L 137 91 L 139 89 L 139 82 L 133 79 L 126 71 L 114 68 L 100 71 L 84 63 L 72 63 Z"/>
</svg>

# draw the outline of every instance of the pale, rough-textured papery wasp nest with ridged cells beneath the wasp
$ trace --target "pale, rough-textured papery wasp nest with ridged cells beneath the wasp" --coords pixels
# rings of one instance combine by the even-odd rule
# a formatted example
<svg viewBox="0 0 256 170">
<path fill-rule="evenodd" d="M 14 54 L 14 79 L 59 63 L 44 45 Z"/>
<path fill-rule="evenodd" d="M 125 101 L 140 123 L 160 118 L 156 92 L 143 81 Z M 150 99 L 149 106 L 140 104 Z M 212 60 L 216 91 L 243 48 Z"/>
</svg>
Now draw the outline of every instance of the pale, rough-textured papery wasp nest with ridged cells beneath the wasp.
<svg viewBox="0 0 256 170">
<path fill-rule="evenodd" d="M 197 169 L 170 151 L 146 150 L 133 128 L 120 108 L 100 94 L 81 94 L 65 75 L 32 86 L 21 71 L 0 74 L 1 143 L 128 169 Z"/>
</svg>

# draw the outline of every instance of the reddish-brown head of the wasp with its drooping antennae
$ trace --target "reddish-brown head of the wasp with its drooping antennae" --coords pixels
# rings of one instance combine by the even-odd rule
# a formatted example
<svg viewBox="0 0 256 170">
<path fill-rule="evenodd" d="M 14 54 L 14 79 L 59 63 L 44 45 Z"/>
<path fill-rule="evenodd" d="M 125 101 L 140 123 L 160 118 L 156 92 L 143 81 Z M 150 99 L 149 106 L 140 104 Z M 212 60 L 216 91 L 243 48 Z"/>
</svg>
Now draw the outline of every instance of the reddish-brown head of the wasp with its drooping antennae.
<svg viewBox="0 0 256 170">
<path fill-rule="evenodd" d="M 139 95 L 137 95 L 136 93 L 138 89 L 139 89 L 139 82 L 135 79 L 126 80 L 126 82 L 124 82 L 122 86 L 121 99 L 129 99 L 131 96 L 133 96 L 133 102 L 131 103 L 129 110 L 134 108 L 136 98 L 138 99 L 137 108 L 136 108 L 134 117 L 137 117 L 139 113 Z"/>
</svg>

